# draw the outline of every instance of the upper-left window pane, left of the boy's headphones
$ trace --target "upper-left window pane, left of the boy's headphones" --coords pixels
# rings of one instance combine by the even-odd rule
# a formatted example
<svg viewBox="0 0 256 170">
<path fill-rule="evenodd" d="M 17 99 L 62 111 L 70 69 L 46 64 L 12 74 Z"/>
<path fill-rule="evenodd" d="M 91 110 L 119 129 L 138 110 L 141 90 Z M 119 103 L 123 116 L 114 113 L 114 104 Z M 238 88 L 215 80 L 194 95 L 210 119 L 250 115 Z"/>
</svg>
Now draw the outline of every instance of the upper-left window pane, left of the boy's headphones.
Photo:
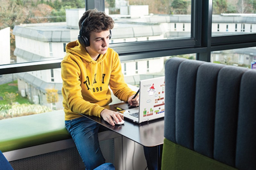
<svg viewBox="0 0 256 170">
<path fill-rule="evenodd" d="M 77 39 L 78 19 L 70 15 L 76 29 L 68 25 L 66 10 L 85 9 L 85 1 L 1 1 L 1 64 L 62 58 L 64 43 Z M 26 12 L 25 12 L 26 11 Z M 77 13 L 77 11 L 75 11 Z M 75 13 L 74 12 L 74 13 Z"/>
</svg>

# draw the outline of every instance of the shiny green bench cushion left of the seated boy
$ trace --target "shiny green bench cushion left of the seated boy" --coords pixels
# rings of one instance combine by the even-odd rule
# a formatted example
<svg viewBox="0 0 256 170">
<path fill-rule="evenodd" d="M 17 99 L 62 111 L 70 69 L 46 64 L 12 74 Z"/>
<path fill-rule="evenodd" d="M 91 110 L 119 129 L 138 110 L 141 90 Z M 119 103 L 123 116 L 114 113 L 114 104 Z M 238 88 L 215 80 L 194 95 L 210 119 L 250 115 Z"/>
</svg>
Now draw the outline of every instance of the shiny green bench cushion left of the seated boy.
<svg viewBox="0 0 256 170">
<path fill-rule="evenodd" d="M 0 120 L 0 129 L 2 152 L 70 138 L 63 110 Z"/>
</svg>

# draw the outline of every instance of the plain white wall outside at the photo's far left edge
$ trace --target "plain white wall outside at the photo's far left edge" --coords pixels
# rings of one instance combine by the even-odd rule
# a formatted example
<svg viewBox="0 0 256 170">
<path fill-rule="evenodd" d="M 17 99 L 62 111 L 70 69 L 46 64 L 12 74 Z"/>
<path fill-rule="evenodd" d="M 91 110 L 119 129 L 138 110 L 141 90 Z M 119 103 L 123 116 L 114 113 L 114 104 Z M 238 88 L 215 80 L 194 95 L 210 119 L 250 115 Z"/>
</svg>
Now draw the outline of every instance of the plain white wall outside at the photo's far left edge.
<svg viewBox="0 0 256 170">
<path fill-rule="evenodd" d="M 10 48 L 10 27 L 0 30 L 0 64 L 10 64 L 11 62 L 11 48 Z"/>
</svg>

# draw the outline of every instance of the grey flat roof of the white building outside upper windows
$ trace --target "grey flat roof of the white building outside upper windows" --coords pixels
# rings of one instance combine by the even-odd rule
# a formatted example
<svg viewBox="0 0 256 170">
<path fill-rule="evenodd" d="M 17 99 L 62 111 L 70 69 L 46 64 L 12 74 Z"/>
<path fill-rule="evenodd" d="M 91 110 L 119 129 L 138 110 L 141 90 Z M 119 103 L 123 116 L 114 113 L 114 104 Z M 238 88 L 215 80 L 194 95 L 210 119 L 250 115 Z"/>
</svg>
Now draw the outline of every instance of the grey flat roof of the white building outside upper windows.
<svg viewBox="0 0 256 170">
<path fill-rule="evenodd" d="M 131 38 L 157 36 L 164 34 L 161 23 L 190 23 L 190 15 L 149 15 L 142 18 L 119 18 L 113 15 L 115 27 L 112 38 Z M 213 23 L 251 23 L 256 24 L 254 16 L 213 15 Z M 66 22 L 22 24 L 15 26 L 13 34 L 43 42 L 70 42 L 77 39 L 79 29 L 67 27 Z"/>
</svg>

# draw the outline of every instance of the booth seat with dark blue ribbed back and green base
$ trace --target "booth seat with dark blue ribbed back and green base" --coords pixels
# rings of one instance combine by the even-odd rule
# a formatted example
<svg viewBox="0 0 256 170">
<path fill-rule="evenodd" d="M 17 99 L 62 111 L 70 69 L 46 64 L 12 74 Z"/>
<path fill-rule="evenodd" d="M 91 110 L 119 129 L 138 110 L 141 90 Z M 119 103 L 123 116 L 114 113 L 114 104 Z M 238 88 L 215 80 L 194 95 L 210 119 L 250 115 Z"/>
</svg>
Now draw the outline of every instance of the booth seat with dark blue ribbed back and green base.
<svg viewBox="0 0 256 170">
<path fill-rule="evenodd" d="M 256 71 L 165 64 L 162 169 L 256 169 Z"/>
</svg>

